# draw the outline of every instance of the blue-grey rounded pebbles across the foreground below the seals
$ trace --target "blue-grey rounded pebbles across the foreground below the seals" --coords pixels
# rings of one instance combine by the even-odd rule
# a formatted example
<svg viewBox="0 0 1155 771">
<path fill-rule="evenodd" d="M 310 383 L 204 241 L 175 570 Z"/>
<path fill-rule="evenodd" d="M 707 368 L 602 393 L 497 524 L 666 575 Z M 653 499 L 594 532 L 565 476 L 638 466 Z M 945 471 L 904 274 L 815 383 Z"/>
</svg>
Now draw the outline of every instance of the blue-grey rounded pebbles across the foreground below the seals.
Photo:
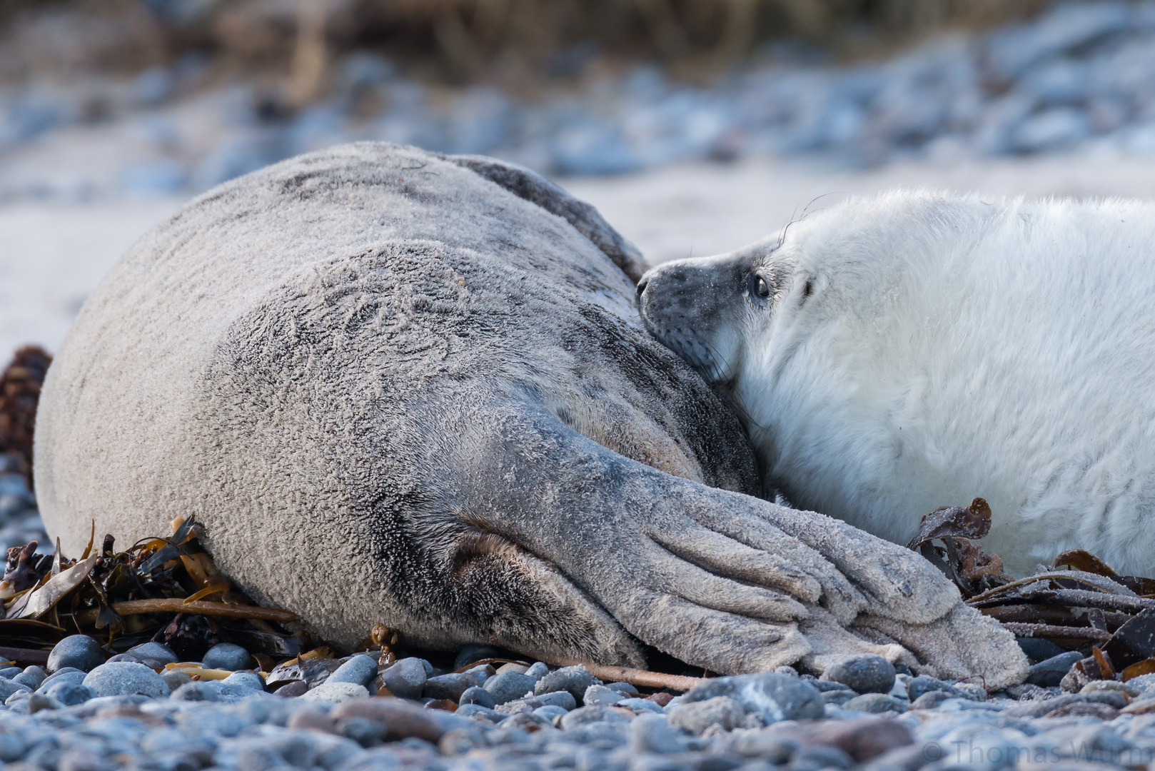
<svg viewBox="0 0 1155 771">
<path fill-rule="evenodd" d="M 580 666 L 472 663 L 492 653 L 462 651 L 459 672 L 356 654 L 261 674 L 229 672 L 248 663 L 234 645 L 202 662 L 156 643 L 104 661 L 73 636 L 46 667 L 0 669 L 0 759 L 13 771 L 1091 771 L 1155 758 L 1155 676 L 1065 692 L 1070 654 L 994 694 L 859 657 L 821 680 L 781 667 L 673 695 Z M 381 689 L 392 696 L 370 696 Z"/>
</svg>

